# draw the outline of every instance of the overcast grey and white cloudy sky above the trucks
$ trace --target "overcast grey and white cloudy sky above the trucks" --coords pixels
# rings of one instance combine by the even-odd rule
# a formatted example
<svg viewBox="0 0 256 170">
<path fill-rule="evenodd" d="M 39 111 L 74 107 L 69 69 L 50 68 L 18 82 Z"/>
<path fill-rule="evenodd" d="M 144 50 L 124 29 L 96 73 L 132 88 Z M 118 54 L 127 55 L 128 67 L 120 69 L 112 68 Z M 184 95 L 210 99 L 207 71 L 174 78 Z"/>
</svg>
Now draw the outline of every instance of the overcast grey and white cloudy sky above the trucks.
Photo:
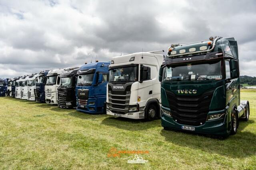
<svg viewBox="0 0 256 170">
<path fill-rule="evenodd" d="M 256 76 L 256 1 L 0 0 L 0 77 L 110 61 L 172 43 L 235 37 Z"/>
</svg>

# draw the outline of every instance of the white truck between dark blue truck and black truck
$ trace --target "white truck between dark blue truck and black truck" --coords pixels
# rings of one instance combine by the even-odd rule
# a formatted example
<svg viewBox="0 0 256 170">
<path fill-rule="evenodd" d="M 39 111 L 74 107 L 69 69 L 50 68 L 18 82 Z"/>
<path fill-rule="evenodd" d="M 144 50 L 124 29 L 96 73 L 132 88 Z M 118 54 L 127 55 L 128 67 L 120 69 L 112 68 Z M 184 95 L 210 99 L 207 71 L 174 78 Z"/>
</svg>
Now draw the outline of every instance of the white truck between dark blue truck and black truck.
<svg viewBox="0 0 256 170">
<path fill-rule="evenodd" d="M 50 70 L 47 74 L 45 85 L 45 101 L 47 104 L 58 104 L 58 87 L 60 86 L 60 74 L 64 69 Z"/>
</svg>

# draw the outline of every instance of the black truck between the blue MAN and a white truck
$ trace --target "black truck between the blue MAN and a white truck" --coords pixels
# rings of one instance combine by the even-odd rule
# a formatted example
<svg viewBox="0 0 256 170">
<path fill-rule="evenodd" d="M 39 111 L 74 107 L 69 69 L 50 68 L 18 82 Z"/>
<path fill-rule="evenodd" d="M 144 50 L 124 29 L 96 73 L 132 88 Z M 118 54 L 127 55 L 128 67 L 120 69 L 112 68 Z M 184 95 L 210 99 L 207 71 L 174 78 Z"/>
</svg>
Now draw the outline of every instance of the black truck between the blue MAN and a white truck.
<svg viewBox="0 0 256 170">
<path fill-rule="evenodd" d="M 76 81 L 79 67 L 64 68 L 58 87 L 58 107 L 76 108 Z"/>
</svg>

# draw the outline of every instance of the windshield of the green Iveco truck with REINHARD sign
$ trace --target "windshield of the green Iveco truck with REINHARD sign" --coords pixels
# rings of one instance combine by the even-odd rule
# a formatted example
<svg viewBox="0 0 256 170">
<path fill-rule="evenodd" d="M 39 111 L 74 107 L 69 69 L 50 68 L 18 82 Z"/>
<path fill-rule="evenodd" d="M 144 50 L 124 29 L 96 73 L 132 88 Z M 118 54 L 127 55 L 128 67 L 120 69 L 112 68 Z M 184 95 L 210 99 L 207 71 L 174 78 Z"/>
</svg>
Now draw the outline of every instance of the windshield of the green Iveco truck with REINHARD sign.
<svg viewBox="0 0 256 170">
<path fill-rule="evenodd" d="M 221 80 L 222 61 L 175 64 L 164 67 L 163 81 Z"/>
</svg>

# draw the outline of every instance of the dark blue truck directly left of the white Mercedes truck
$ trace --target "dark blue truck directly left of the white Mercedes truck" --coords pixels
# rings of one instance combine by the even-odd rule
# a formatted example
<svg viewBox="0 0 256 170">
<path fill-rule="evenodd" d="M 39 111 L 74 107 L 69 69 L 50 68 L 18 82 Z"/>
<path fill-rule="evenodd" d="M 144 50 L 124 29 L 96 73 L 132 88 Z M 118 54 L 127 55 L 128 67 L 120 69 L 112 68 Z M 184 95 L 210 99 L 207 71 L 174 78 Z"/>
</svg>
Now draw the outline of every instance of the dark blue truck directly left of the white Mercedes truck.
<svg viewBox="0 0 256 170">
<path fill-rule="evenodd" d="M 47 81 L 46 75 L 48 74 L 48 70 L 41 71 L 36 78 L 36 88 L 34 89 L 36 102 L 45 103 L 45 91 L 44 86 Z"/>
</svg>

